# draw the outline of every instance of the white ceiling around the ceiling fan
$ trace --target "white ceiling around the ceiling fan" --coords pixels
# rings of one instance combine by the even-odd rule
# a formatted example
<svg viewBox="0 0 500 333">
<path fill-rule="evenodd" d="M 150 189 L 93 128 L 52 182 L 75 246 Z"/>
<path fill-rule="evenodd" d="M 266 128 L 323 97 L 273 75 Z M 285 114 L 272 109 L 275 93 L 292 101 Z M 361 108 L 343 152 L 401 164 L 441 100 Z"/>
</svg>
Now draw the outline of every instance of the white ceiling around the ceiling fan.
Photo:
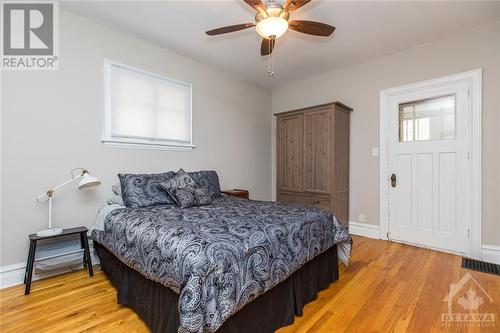
<svg viewBox="0 0 500 333">
<path fill-rule="evenodd" d="M 331 37 L 289 31 L 273 52 L 267 75 L 254 29 L 209 37 L 204 31 L 253 22 L 242 0 L 65 1 L 61 8 L 164 46 L 265 87 L 365 62 L 500 19 L 500 2 L 313 0 L 291 19 L 334 25 Z"/>
</svg>

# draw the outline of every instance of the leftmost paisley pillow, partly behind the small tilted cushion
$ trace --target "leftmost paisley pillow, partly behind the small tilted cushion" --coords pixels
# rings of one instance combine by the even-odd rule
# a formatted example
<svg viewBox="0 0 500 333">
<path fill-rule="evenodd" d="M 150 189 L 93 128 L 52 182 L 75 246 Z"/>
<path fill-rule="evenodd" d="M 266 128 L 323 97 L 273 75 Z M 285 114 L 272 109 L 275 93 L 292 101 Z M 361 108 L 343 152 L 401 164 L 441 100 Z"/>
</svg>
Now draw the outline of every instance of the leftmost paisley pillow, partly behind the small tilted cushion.
<svg viewBox="0 0 500 333">
<path fill-rule="evenodd" d="M 125 206 L 138 208 L 175 204 L 172 197 L 160 186 L 161 182 L 174 176 L 172 171 L 157 174 L 119 174 Z"/>
</svg>

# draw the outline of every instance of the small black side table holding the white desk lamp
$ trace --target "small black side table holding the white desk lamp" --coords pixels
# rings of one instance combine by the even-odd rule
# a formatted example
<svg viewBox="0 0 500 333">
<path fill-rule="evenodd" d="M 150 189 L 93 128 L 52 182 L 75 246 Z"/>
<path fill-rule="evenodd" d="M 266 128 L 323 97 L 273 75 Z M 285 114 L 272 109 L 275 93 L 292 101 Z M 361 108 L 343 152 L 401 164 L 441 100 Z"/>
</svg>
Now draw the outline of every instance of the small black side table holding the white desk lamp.
<svg viewBox="0 0 500 333">
<path fill-rule="evenodd" d="M 89 240 L 87 237 L 87 232 L 88 229 L 85 227 L 76 227 L 76 228 L 64 229 L 62 233 L 53 236 L 37 236 L 36 234 L 29 235 L 30 250 L 28 254 L 28 261 L 26 263 L 26 272 L 24 274 L 24 284 L 26 285 L 24 294 L 28 295 L 30 293 L 31 278 L 33 277 L 33 266 L 35 265 L 36 242 L 39 240 L 80 234 L 80 244 L 83 249 L 83 266 L 88 267 L 89 276 L 94 276 L 94 271 L 92 270 L 92 259 L 90 258 Z M 41 258 L 41 259 L 47 259 L 47 258 Z"/>
</svg>

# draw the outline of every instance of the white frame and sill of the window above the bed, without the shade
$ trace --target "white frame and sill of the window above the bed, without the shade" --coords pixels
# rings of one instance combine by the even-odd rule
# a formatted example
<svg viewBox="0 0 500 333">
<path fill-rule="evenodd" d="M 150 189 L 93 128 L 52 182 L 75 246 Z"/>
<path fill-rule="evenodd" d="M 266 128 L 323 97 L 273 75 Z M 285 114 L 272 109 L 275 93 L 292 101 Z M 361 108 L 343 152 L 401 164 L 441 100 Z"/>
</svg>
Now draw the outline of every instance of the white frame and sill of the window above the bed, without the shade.
<svg viewBox="0 0 500 333">
<path fill-rule="evenodd" d="M 190 92 L 190 138 L 189 143 L 181 143 L 167 140 L 149 140 L 140 138 L 114 137 L 111 134 L 111 66 L 121 67 L 140 74 L 152 76 L 160 80 L 176 83 L 189 88 Z M 175 80 L 166 76 L 151 73 L 136 67 L 125 65 L 109 59 L 104 59 L 104 130 L 101 142 L 106 147 L 112 148 L 131 148 L 131 149 L 156 149 L 156 150 L 175 150 L 192 151 L 196 148 L 193 145 L 193 86 L 190 83 Z"/>
</svg>

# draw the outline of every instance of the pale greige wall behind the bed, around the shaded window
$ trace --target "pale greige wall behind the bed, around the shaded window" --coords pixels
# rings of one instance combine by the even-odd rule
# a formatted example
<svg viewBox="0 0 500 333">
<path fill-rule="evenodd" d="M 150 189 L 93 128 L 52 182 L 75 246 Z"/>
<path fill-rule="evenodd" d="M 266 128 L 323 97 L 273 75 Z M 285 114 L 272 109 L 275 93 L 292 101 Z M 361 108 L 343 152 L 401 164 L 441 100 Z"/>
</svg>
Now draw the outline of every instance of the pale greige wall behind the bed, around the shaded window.
<svg viewBox="0 0 500 333">
<path fill-rule="evenodd" d="M 102 185 L 56 193 L 57 227 L 91 227 L 119 172 L 215 169 L 223 188 L 271 198 L 270 91 L 64 11 L 59 30 L 59 71 L 1 73 L 0 266 L 25 260 L 27 235 L 47 223 L 47 205 L 35 196 L 74 167 L 88 168 Z M 194 151 L 104 147 L 104 58 L 192 83 Z"/>
</svg>

